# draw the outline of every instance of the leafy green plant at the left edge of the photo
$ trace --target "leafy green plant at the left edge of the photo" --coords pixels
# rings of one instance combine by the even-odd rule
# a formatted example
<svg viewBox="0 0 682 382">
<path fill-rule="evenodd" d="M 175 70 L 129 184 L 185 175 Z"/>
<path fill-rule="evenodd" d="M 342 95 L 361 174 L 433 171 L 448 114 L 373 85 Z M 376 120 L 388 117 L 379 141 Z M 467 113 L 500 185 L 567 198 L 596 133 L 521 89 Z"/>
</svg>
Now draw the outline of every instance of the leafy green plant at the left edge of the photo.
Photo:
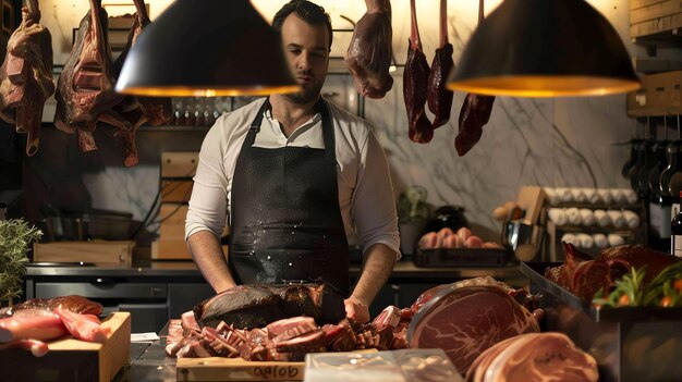
<svg viewBox="0 0 682 382">
<path fill-rule="evenodd" d="M 0 300 L 22 294 L 28 246 L 41 236 L 40 230 L 22 219 L 0 221 Z"/>
</svg>

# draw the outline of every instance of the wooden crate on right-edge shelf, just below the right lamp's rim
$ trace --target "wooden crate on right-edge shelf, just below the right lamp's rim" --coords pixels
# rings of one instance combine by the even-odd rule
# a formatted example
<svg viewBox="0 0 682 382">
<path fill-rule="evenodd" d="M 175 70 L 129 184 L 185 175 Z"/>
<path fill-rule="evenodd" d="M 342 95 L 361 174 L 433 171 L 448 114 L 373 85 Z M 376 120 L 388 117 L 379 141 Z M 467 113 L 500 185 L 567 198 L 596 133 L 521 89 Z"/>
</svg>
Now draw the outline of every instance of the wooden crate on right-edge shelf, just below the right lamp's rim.
<svg viewBox="0 0 682 382">
<path fill-rule="evenodd" d="M 642 88 L 628 94 L 628 115 L 682 114 L 682 71 L 642 76 Z"/>
</svg>

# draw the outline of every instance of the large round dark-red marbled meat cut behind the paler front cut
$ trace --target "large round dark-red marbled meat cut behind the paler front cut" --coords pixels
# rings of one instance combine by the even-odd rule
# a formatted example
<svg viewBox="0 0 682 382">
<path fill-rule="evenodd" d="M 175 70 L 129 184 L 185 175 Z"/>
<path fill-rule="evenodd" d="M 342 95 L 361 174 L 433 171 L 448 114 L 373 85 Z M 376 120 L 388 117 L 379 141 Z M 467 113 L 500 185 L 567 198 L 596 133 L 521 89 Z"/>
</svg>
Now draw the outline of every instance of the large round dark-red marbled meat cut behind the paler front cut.
<svg viewBox="0 0 682 382">
<path fill-rule="evenodd" d="M 501 286 L 443 287 L 412 319 L 412 348 L 441 348 L 465 373 L 484 350 L 523 333 L 539 332 L 534 316 Z"/>
</svg>

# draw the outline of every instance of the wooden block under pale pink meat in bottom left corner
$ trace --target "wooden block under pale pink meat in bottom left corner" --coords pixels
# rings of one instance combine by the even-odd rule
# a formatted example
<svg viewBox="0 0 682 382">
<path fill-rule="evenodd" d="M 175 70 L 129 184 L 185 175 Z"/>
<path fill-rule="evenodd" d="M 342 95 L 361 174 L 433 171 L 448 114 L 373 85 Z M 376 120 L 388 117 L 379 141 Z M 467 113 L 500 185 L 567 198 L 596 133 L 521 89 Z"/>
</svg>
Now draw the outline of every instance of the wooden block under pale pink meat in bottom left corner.
<svg viewBox="0 0 682 382">
<path fill-rule="evenodd" d="M 70 337 L 49 343 L 42 357 L 22 349 L 0 352 L 0 381 L 111 381 L 130 358 L 131 315 L 113 312 L 102 325 L 111 328 L 103 344 Z"/>
</svg>

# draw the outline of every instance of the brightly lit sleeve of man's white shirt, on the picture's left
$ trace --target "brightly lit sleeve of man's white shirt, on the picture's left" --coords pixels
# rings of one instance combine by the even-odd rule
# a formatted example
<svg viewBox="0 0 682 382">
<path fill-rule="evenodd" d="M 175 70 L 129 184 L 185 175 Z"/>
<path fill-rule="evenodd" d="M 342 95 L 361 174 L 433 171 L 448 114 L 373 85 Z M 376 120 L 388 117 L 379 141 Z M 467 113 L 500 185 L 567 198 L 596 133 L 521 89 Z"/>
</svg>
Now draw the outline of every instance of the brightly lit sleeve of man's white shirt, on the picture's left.
<svg viewBox="0 0 682 382">
<path fill-rule="evenodd" d="M 228 213 L 228 178 L 223 164 L 226 140 L 221 137 L 219 123 L 211 127 L 202 144 L 185 220 L 185 241 L 199 231 L 210 231 L 220 238 L 226 225 Z"/>
</svg>

